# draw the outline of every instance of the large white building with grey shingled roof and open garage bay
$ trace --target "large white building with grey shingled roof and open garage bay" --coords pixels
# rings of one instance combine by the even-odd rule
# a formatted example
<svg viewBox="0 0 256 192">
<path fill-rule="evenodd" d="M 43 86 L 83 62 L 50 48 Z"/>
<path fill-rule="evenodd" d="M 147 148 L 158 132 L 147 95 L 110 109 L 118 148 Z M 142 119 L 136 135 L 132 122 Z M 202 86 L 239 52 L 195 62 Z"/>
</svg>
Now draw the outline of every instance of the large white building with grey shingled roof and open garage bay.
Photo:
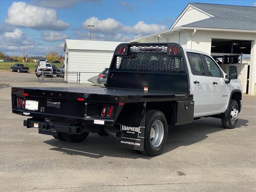
<svg viewBox="0 0 256 192">
<path fill-rule="evenodd" d="M 227 66 L 237 65 L 243 93 L 255 95 L 256 7 L 190 3 L 170 29 L 131 42 L 166 41 L 212 56 L 225 55 L 222 60 L 228 64 L 220 66 L 228 72 Z M 250 70 L 247 63 L 236 62 L 230 57 L 235 54 L 250 54 Z"/>
</svg>

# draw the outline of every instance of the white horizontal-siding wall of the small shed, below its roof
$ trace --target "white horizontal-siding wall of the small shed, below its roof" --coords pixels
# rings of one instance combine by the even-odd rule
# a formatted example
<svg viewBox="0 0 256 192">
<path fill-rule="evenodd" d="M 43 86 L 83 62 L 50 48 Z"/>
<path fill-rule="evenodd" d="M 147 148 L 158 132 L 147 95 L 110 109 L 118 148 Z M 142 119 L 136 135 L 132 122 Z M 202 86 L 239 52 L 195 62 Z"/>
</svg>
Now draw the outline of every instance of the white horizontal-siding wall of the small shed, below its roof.
<svg viewBox="0 0 256 192">
<path fill-rule="evenodd" d="M 67 50 L 68 72 L 81 72 L 80 82 L 89 83 L 87 80 L 98 75 L 104 68 L 109 68 L 114 51 L 104 50 Z M 68 74 L 65 79 L 74 82 L 76 75 Z"/>
</svg>

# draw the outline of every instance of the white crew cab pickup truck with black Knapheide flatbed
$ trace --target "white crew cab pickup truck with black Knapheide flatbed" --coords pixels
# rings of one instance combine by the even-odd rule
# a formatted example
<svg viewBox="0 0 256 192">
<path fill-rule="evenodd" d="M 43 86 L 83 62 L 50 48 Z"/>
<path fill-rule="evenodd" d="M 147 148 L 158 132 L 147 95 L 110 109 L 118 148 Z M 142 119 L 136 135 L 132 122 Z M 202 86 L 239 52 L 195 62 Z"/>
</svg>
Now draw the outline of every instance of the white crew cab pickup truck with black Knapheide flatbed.
<svg viewBox="0 0 256 192">
<path fill-rule="evenodd" d="M 163 150 L 168 125 L 215 117 L 234 128 L 241 108 L 236 66 L 225 74 L 210 55 L 176 43 L 118 45 L 106 87 L 12 87 L 12 112 L 32 117 L 27 128 L 67 142 L 111 135 L 148 156 Z"/>
</svg>

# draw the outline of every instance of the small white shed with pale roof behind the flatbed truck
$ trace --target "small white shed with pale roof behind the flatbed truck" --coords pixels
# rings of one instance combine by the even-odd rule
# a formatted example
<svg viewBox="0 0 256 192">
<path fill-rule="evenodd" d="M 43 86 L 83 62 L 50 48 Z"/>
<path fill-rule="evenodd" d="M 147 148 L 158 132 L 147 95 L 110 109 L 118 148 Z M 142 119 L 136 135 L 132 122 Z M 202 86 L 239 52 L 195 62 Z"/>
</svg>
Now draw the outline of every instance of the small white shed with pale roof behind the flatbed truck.
<svg viewBox="0 0 256 192">
<path fill-rule="evenodd" d="M 104 68 L 109 68 L 114 50 L 121 43 L 66 39 L 65 80 L 76 82 L 77 73 L 80 72 L 80 83 L 89 83 L 89 78 L 98 75 Z"/>
</svg>

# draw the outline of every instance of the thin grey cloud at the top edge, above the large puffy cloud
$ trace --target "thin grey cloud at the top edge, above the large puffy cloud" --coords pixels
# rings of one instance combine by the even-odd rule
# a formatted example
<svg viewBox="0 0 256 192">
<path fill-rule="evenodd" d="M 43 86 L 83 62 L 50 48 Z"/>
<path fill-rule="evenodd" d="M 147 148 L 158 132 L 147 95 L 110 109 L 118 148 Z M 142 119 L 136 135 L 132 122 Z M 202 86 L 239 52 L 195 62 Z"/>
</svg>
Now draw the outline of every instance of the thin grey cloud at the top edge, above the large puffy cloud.
<svg viewBox="0 0 256 192">
<path fill-rule="evenodd" d="M 50 8 L 72 8 L 78 0 L 34 0 L 32 4 Z"/>
</svg>

